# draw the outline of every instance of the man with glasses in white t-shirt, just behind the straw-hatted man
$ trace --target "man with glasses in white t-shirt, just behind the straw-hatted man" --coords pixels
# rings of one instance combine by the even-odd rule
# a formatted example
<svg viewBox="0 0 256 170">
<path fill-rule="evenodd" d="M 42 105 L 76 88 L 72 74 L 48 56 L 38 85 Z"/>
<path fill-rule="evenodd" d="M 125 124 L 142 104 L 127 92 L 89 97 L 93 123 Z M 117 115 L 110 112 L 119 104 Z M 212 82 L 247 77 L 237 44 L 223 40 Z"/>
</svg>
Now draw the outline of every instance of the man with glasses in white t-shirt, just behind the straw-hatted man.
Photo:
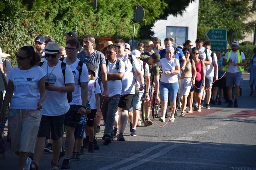
<svg viewBox="0 0 256 170">
<path fill-rule="evenodd" d="M 66 41 L 66 53 L 67 57 L 61 60 L 67 65 L 70 66 L 73 77 L 75 81 L 75 91 L 72 92 L 73 100 L 69 103 L 69 111 L 65 115 L 65 131 L 66 131 L 66 140 L 65 140 L 65 159 L 62 163 L 62 168 L 69 168 L 69 158 L 72 154 L 75 137 L 74 132 L 76 126 L 79 126 L 81 115 L 86 114 L 86 103 L 87 103 L 87 94 L 88 94 L 88 70 L 84 63 L 82 67 L 79 65 L 80 60 L 76 58 L 76 53 L 79 51 L 79 41 L 75 38 L 69 38 Z M 82 71 L 80 70 L 82 69 Z M 81 71 L 81 75 L 79 73 Z M 77 108 L 78 107 L 78 108 Z"/>
</svg>

